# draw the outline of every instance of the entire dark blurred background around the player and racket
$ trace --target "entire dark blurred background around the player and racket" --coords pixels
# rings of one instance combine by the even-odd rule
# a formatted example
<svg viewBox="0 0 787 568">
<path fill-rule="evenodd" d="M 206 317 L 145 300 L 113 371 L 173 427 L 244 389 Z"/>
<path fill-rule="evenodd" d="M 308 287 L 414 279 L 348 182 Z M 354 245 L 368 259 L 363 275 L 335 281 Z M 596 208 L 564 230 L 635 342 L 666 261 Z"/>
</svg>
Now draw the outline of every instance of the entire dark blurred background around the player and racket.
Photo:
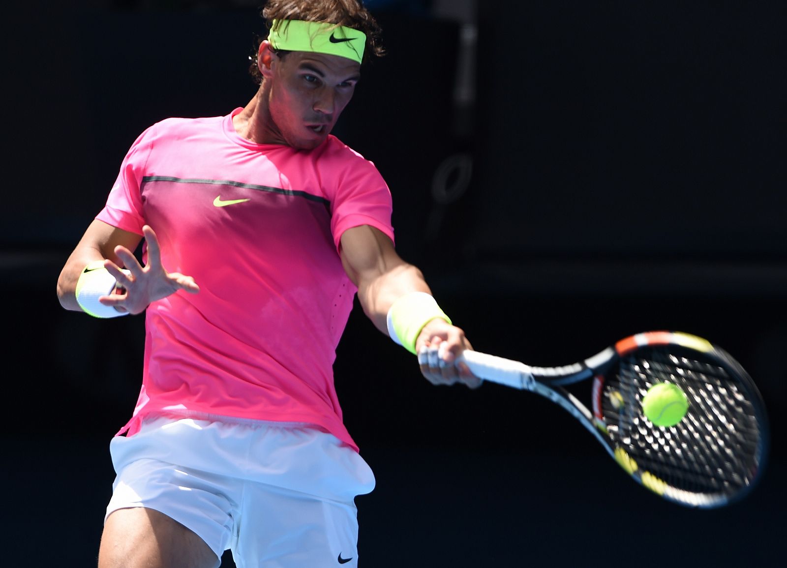
<svg viewBox="0 0 787 568">
<path fill-rule="evenodd" d="M 368 5 L 390 53 L 335 134 L 386 176 L 401 255 L 475 348 L 551 365 L 642 330 L 699 334 L 755 378 L 773 441 L 747 500 L 677 507 L 545 400 L 429 385 L 356 310 L 335 371 L 378 479 L 357 500 L 364 566 L 778 565 L 781 2 Z M 28 2 L 5 19 L 3 566 L 94 566 L 144 322 L 63 311 L 57 275 L 145 127 L 253 96 L 260 26 L 253 2 Z"/>
</svg>

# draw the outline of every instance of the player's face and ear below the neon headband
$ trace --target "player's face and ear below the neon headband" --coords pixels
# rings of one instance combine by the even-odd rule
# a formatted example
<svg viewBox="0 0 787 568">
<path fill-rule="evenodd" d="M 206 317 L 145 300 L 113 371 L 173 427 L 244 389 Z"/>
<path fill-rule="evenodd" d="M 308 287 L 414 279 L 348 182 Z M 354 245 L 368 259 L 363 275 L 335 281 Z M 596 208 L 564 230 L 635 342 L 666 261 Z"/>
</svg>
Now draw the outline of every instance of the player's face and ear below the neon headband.
<svg viewBox="0 0 787 568">
<path fill-rule="evenodd" d="M 263 89 L 268 106 L 267 142 L 298 149 L 320 146 L 353 98 L 360 64 L 305 51 L 279 57 L 269 46 L 260 46 L 258 61 L 267 82 Z"/>
</svg>

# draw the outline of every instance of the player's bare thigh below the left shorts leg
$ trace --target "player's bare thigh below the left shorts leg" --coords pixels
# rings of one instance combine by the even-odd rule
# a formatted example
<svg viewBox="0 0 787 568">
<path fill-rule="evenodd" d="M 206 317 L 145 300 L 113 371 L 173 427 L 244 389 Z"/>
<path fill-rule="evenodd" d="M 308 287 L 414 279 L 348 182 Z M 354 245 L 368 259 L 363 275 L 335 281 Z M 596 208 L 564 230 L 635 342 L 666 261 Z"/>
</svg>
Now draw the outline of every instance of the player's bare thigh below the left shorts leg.
<svg viewBox="0 0 787 568">
<path fill-rule="evenodd" d="M 145 507 L 118 509 L 106 519 L 99 568 L 216 568 L 205 541 L 167 515 Z"/>
</svg>

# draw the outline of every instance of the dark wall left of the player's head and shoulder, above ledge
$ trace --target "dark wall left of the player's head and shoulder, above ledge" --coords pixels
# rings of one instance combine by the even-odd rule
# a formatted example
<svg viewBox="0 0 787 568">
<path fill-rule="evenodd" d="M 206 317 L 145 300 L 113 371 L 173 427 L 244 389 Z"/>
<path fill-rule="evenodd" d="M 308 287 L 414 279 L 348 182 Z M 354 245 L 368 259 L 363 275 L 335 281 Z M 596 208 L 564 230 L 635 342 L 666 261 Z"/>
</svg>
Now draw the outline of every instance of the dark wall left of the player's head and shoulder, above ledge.
<svg viewBox="0 0 787 568">
<path fill-rule="evenodd" d="M 246 75 L 261 24 L 254 9 L 45 6 L 26 5 L 31 13 L 9 30 L 9 173 L 17 190 L 0 243 L 18 249 L 75 245 L 150 124 L 225 114 L 255 90 Z"/>
</svg>

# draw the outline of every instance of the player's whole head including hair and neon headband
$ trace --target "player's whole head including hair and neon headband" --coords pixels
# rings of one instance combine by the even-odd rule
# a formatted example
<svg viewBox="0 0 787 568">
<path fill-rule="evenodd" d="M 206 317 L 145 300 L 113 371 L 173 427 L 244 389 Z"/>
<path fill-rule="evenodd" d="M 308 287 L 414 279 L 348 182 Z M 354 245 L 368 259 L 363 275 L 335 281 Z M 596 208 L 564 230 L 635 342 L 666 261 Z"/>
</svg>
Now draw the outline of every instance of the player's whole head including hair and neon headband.
<svg viewBox="0 0 787 568">
<path fill-rule="evenodd" d="M 270 0 L 257 48 L 264 139 L 312 149 L 353 97 L 360 65 L 379 55 L 379 28 L 355 0 Z"/>
</svg>

